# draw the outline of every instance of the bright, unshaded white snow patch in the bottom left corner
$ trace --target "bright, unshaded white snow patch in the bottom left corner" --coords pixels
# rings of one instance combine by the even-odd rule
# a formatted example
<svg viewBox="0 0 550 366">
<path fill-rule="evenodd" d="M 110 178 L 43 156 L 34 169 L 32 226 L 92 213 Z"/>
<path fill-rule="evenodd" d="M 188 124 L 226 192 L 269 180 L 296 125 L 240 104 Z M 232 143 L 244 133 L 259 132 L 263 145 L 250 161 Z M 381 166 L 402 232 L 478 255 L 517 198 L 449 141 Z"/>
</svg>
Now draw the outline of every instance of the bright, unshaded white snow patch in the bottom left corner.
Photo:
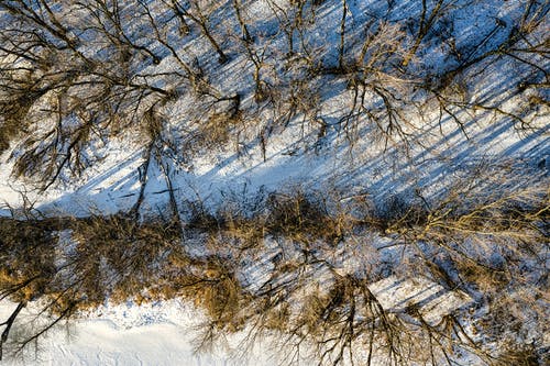
<svg viewBox="0 0 550 366">
<path fill-rule="evenodd" d="M 12 308 L 2 304 L 0 315 L 8 315 Z M 249 361 L 234 359 L 228 351 L 197 354 L 194 324 L 200 319 L 197 310 L 176 300 L 106 307 L 48 332 L 40 340 L 37 353 L 31 346 L 2 365 L 276 365 L 262 352 L 249 355 Z"/>
</svg>

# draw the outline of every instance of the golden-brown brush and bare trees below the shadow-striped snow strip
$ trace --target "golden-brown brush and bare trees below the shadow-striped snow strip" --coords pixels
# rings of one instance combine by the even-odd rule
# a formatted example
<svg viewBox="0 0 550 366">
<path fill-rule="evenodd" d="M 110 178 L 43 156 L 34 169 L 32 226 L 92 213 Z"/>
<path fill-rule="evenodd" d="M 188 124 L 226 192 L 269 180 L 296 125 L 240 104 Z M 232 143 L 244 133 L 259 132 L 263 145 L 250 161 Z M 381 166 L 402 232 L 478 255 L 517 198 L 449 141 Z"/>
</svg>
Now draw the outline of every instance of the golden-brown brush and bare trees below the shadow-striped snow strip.
<svg viewBox="0 0 550 366">
<path fill-rule="evenodd" d="M 199 350 L 246 330 L 249 345 L 258 336 L 276 335 L 289 364 L 304 355 L 319 364 L 452 364 L 461 352 L 486 364 L 532 363 L 541 359 L 539 348 L 504 345 L 514 340 L 527 346 L 525 311 L 536 318 L 548 301 L 548 192 L 526 186 L 487 196 L 481 195 L 486 192 L 483 184 L 474 187 L 474 181 L 458 185 L 429 208 L 394 200 L 376 215 L 363 202 L 369 207 L 361 212 L 369 215 L 362 218 L 346 213 L 349 208 L 329 209 L 334 206 L 317 195 L 264 195 L 252 200 L 256 210 L 231 204 L 212 213 L 196 209 L 183 222 L 184 232 L 172 220 L 139 223 L 123 214 L 2 219 L 2 299 L 20 304 L 4 323 L 2 343 L 13 350 L 7 342 L 10 328 L 30 301 L 45 301 L 44 311 L 53 317 L 33 333 L 40 337 L 61 320 L 107 299 L 140 303 L 183 297 L 209 319 L 197 340 Z M 59 242 L 62 232 L 70 233 L 70 242 Z M 369 243 L 365 232 L 392 244 L 373 242 L 367 249 L 360 244 Z M 276 246 L 270 249 L 267 242 Z M 193 256 L 186 245 L 205 245 L 206 252 Z M 369 286 L 387 275 L 380 268 L 367 270 L 367 263 L 391 253 L 402 257 L 386 264 L 391 271 L 461 290 L 475 299 L 470 309 L 488 310 L 472 315 L 462 309 L 435 321 L 413 304 L 385 309 Z M 366 262 L 343 269 L 354 256 Z M 246 279 L 266 270 L 266 263 L 267 277 L 257 284 Z M 472 321 L 475 331 L 466 331 Z M 536 334 L 548 331 L 540 323 L 529 326 Z M 34 335 L 18 340 L 14 350 L 23 350 Z M 495 353 L 485 347 L 488 340 L 508 351 Z"/>
</svg>

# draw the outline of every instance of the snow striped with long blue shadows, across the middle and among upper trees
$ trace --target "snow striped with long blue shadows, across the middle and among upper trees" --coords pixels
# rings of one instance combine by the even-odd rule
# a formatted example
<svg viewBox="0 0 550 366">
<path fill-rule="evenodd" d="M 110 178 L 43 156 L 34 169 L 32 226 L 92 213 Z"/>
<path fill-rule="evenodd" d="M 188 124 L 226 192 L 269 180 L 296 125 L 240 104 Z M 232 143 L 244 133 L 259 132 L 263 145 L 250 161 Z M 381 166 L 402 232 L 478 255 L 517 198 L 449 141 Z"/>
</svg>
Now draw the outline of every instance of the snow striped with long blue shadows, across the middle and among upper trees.
<svg viewBox="0 0 550 366">
<path fill-rule="evenodd" d="M 280 5 L 286 3 L 280 1 Z M 495 19 L 512 23 L 512 19 L 517 19 L 522 10 L 520 2 L 506 2 L 498 7 L 491 1 L 479 4 L 471 4 L 468 1 L 444 3 L 446 7 L 450 7 L 453 14 L 454 29 L 461 30 L 460 34 L 454 34 L 458 44 L 483 37 L 493 29 Z M 468 7 L 464 8 L 466 3 Z M 348 1 L 348 7 L 350 29 L 353 29 L 354 23 L 364 22 L 367 14 L 384 14 L 387 11 L 387 3 L 383 1 Z M 419 11 L 419 3 L 404 2 L 397 4 L 387 16 L 389 20 L 402 19 L 405 13 Z M 273 18 L 272 13 L 273 10 L 264 1 L 253 1 L 246 9 L 251 23 L 260 20 L 268 23 Z M 311 42 L 320 42 L 319 45 L 324 46 L 327 43 L 338 43 L 338 30 L 332 29 L 330 24 L 338 24 L 340 16 L 340 4 L 321 5 L 316 11 L 316 22 L 320 24 L 317 26 L 327 29 L 327 34 L 319 37 L 311 36 Z M 315 30 L 312 26 L 308 32 Z M 501 33 L 491 42 L 502 41 L 506 32 Z M 278 35 L 266 42 L 270 48 L 273 48 L 276 44 L 283 44 L 283 36 Z M 206 49 L 209 49 L 204 43 L 205 40 L 198 37 L 190 40 L 185 47 L 194 49 L 202 62 L 208 57 Z M 327 49 L 323 52 L 329 53 Z M 275 53 L 273 55 L 278 57 Z M 154 71 L 168 71 L 173 68 L 176 63 L 170 57 L 165 57 Z M 431 52 L 429 47 L 427 54 L 422 56 L 422 63 L 432 68 L 444 64 L 438 52 Z M 212 76 L 211 82 L 228 95 L 232 90 L 250 92 L 252 81 L 250 66 L 243 56 L 234 57 L 223 67 L 204 65 Z M 271 67 L 266 66 L 266 69 Z M 153 71 L 153 65 L 146 66 L 143 73 L 147 73 L 148 69 Z M 506 93 L 497 95 L 494 90 L 513 90 L 515 73 L 517 70 L 510 69 L 506 64 L 496 63 L 490 66 L 488 70 L 484 70 L 483 78 L 476 78 L 480 85 L 476 86 L 475 95 L 488 101 L 503 99 Z M 341 86 L 330 85 L 327 81 L 323 81 L 321 91 L 320 114 L 329 122 L 338 120 L 342 111 L 349 108 L 350 99 L 346 97 L 346 91 L 342 90 Z M 246 98 L 250 100 L 249 96 Z M 243 101 L 244 106 L 249 103 L 248 99 Z M 194 102 L 191 98 L 185 97 L 174 106 L 167 107 L 165 113 L 170 115 L 170 123 L 176 129 L 178 125 L 185 125 L 186 114 L 193 110 Z M 507 101 L 510 106 L 514 106 L 514 99 Z M 305 188 L 324 188 L 329 184 L 337 187 L 363 186 L 383 196 L 388 191 L 405 190 L 410 185 L 419 189 L 430 189 L 433 184 L 446 186 L 448 176 L 471 162 L 517 159 L 529 156 L 531 152 L 538 155 L 534 156 L 535 158 L 539 158 L 540 154 L 543 157 L 550 152 L 550 142 L 543 129 L 520 136 L 515 132 L 512 121 L 499 123 L 495 127 L 492 115 L 464 114 L 462 118 L 466 120 L 465 131 L 470 138 L 464 138 L 450 119 L 442 121 L 443 134 L 439 133 L 440 126 L 432 121 L 418 131 L 414 138 L 422 145 L 413 148 L 408 156 L 403 154 L 402 146 L 389 147 L 385 154 L 381 154 L 381 144 L 373 143 L 371 138 L 362 138 L 354 149 L 348 149 L 342 143 L 345 142 L 345 134 L 336 130 L 330 123 L 326 147 L 320 151 L 306 151 L 301 142 L 311 136 L 308 135 L 308 131 L 301 130 L 302 126 L 298 121 L 293 121 L 289 127 L 270 137 L 265 162 L 258 146 L 254 145 L 246 147 L 242 154 L 235 153 L 232 148 L 206 151 L 195 156 L 190 163 L 174 164 L 172 178 L 178 199 L 194 200 L 198 196 L 205 200 L 208 208 L 216 209 L 222 201 L 220 192 L 239 191 L 244 185 L 250 192 L 260 189 L 277 190 L 285 186 L 292 187 L 293 184 L 295 186 L 299 184 Z M 541 122 L 543 123 L 543 119 Z M 371 137 L 367 131 L 359 133 L 366 133 L 365 137 Z M 99 148 L 96 153 L 105 158 L 87 169 L 80 179 L 65 180 L 46 192 L 33 191 L 30 185 L 24 185 L 20 179 L 12 177 L 10 173 L 13 162 L 8 160 L 9 154 L 6 153 L 0 169 L 0 202 L 3 203 L 3 209 L 0 207 L 0 214 L 10 214 L 8 207 L 15 208 L 23 203 L 18 191 L 25 192 L 34 208 L 47 215 L 87 215 L 90 212 L 114 213 L 128 210 L 138 198 L 136 171 L 143 160 L 138 144 L 132 144 L 128 137 L 130 136 L 127 136 L 127 140 L 112 140 L 105 148 Z M 133 140 L 139 142 L 139 137 Z M 150 179 L 147 185 L 145 208 L 157 211 L 166 204 L 167 195 L 158 193 L 164 191 L 166 186 L 161 174 L 154 174 L 154 169 L 152 173 L 156 177 Z M 386 173 L 381 174 L 381 171 Z M 417 181 L 404 181 L 414 177 L 413 173 L 419 175 Z"/>
</svg>

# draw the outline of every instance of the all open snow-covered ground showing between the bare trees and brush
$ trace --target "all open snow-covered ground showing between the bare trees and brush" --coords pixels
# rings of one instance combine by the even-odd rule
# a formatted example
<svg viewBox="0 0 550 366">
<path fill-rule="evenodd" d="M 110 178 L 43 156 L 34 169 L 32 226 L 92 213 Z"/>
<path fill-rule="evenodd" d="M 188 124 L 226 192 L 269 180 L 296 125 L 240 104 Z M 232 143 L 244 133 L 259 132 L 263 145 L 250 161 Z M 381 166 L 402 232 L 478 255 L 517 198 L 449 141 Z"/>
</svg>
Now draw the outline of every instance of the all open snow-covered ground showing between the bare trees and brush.
<svg viewBox="0 0 550 366">
<path fill-rule="evenodd" d="M 275 1 L 287 7 L 286 1 Z M 349 27 L 363 25 L 369 12 L 384 13 L 387 4 L 395 1 L 348 1 Z M 311 49 L 334 57 L 330 47 L 339 42 L 339 20 L 342 16 L 340 2 L 324 1 L 317 13 L 318 31 L 308 30 Z M 387 21 L 398 21 L 405 14 L 419 13 L 420 1 L 402 1 L 393 10 Z M 453 14 L 453 26 L 460 31 L 453 33 L 453 42 L 464 49 L 470 49 L 469 42 L 481 46 L 477 53 L 488 49 L 491 44 L 502 42 L 514 22 L 521 16 L 526 1 L 446 1 Z M 473 3 L 472 7 L 465 7 Z M 455 7 L 454 7 L 455 5 Z M 275 8 L 267 1 L 251 1 L 246 15 L 254 26 L 267 35 L 275 35 L 268 41 L 273 55 L 284 48 L 284 35 L 273 30 Z M 454 7 L 454 8 L 453 8 Z M 464 8 L 461 8 L 464 7 Z M 216 14 L 216 13 L 215 13 Z M 2 15 L 2 14 L 0 14 Z M 216 19 L 216 15 L 213 16 Z M 0 19 L 1 20 L 1 19 Z M 217 24 L 223 20 L 216 19 Z M 499 21 L 505 25 L 495 27 Z M 496 22 L 496 23 L 495 23 Z M 260 24 L 260 25 L 258 25 Z M 234 25 L 234 24 L 233 24 Z M 358 25 L 358 26 L 359 26 Z M 217 36 L 226 31 L 220 31 Z M 496 31 L 493 31 L 496 30 Z M 258 30 L 256 30 L 258 31 Z M 444 30 L 443 30 L 444 31 Z M 449 31 L 449 30 L 448 30 Z M 262 33 L 260 32 L 260 33 Z M 485 35 L 494 33 L 487 43 L 480 43 Z M 266 37 L 267 37 L 266 35 Z M 487 38 L 488 40 L 488 38 Z M 186 41 L 187 42 L 187 41 Z M 182 47 L 182 54 L 189 49 L 196 54 L 212 85 L 224 92 L 241 92 L 244 109 L 251 108 L 252 87 L 250 60 L 239 54 L 238 46 L 228 41 L 232 52 L 226 65 L 216 65 L 215 55 L 208 52 L 210 46 L 204 37 L 188 41 Z M 485 41 L 483 41 L 485 42 Z M 419 65 L 427 69 L 438 69 L 444 65 L 447 55 L 442 45 L 433 41 L 426 45 L 419 55 Z M 327 51 L 326 48 L 329 48 Z M 211 51 L 211 49 L 210 49 Z M 237 55 L 233 55 L 237 54 Z M 473 57 L 472 55 L 469 55 Z M 548 67 L 540 65 L 541 68 Z M 176 65 L 174 57 L 166 56 L 155 73 L 170 70 Z M 279 65 L 275 65 L 279 67 Z M 275 66 L 273 68 L 275 69 Z M 525 66 L 525 65 L 522 65 Z M 509 65 L 509 60 L 497 60 L 488 65 L 474 66 L 470 73 L 471 80 L 479 85 L 471 86 L 468 92 L 472 100 L 481 100 L 485 104 L 498 106 L 502 110 L 514 111 L 520 103 L 514 96 L 521 68 Z M 465 77 L 464 77 L 465 78 Z M 324 80 L 324 79 L 323 79 Z M 415 80 L 416 81 L 416 80 Z M 536 80 L 538 81 L 538 80 Z M 386 146 L 369 127 L 354 132 L 362 136 L 353 147 L 346 141 L 346 132 L 342 131 L 339 119 L 350 108 L 350 91 L 343 82 L 327 78 L 320 88 L 319 115 L 327 122 L 323 144 L 310 144 L 317 131 L 311 124 L 306 127 L 300 117 L 293 119 L 288 126 L 277 130 L 268 138 L 265 152 L 254 138 L 244 141 L 241 152 L 230 146 L 199 151 L 199 154 L 182 160 L 170 160 L 172 169 L 167 174 L 172 179 L 174 196 L 178 202 L 179 213 L 185 217 L 189 202 L 200 202 L 207 210 L 215 212 L 228 201 L 246 197 L 255 197 L 258 191 L 338 191 L 342 199 L 361 195 L 375 203 L 385 202 L 392 196 L 410 197 L 419 193 L 428 201 L 436 200 L 446 189 L 472 171 L 485 167 L 484 174 L 503 177 L 531 177 L 532 181 L 548 181 L 550 169 L 550 134 L 548 114 L 536 113 L 534 129 L 518 131 L 517 121 L 506 119 L 483 110 L 459 111 L 457 114 L 464 121 L 461 130 L 450 115 L 439 120 L 437 108 L 413 121 L 418 130 L 413 131 L 411 144 Z M 470 87 L 470 86 L 469 86 Z M 193 127 L 187 117 L 194 110 L 191 98 L 166 106 L 162 113 L 168 115 L 167 140 L 176 145 L 185 141 L 180 130 Z M 543 109 L 544 107 L 541 107 Z M 37 108 L 38 109 L 38 108 Z M 193 114 L 193 113 L 189 113 Z M 530 115 L 530 114 L 529 114 Z M 258 114 L 262 119 L 264 115 Z M 184 129 L 185 127 L 185 129 Z M 0 156 L 0 215 L 18 215 L 23 208 L 47 217 L 89 214 L 111 214 L 127 212 L 134 207 L 140 195 L 141 180 L 144 174 L 143 146 L 140 136 L 119 135 L 98 147 L 94 153 L 101 156 L 98 164 L 84 170 L 80 177 L 70 177 L 68 171 L 62 174 L 59 181 L 46 191 L 36 189 L 32 182 L 12 175 L 14 159 L 11 154 L 18 152 L 20 142 L 14 141 L 11 149 Z M 173 140 L 173 141 L 172 141 Z M 228 143 L 228 145 L 231 145 Z M 264 156 L 265 154 L 265 156 Z M 15 154 L 16 155 L 16 154 Z M 166 159 L 169 160 L 169 159 Z M 168 186 L 158 162 L 146 168 L 148 180 L 144 190 L 141 210 L 150 214 L 164 214 L 169 204 Z M 484 179 L 480 175 L 480 179 Z M 32 177 L 31 177 L 32 178 Z M 31 179 L 32 180 L 32 179 Z M 521 179 L 522 182 L 529 179 Z M 345 192 L 345 193 L 344 193 Z M 265 280 L 271 270 L 271 259 L 278 253 L 267 253 L 264 260 L 253 263 L 243 274 L 250 290 L 255 290 Z M 342 273 L 353 270 L 353 264 L 343 258 L 338 262 Z M 345 268 L 351 266 L 352 269 Z M 389 276 L 378 282 L 371 284 L 371 291 L 387 311 L 403 311 L 407 306 L 417 304 L 426 310 L 426 319 L 437 322 L 449 312 L 468 308 L 472 299 L 468 296 L 449 291 L 440 285 L 426 279 L 397 278 Z M 2 301 L 0 320 L 9 317 L 11 303 Z M 32 312 L 32 306 L 30 306 Z M 239 334 L 228 341 L 228 347 L 220 346 L 211 353 L 196 354 L 194 326 L 204 318 L 199 310 L 178 300 L 157 301 L 152 304 L 129 302 L 127 304 L 106 306 L 72 321 L 66 328 L 57 326 L 38 342 L 38 353 L 33 354 L 33 346 L 25 351 L 22 361 L 10 359 L 8 365 L 276 365 L 277 350 L 270 347 L 270 340 L 263 340 L 242 358 L 239 350 Z M 22 321 L 24 321 L 23 318 Z M 235 356 L 239 355 L 239 356 Z M 304 365 L 308 365 L 307 361 Z"/>
</svg>

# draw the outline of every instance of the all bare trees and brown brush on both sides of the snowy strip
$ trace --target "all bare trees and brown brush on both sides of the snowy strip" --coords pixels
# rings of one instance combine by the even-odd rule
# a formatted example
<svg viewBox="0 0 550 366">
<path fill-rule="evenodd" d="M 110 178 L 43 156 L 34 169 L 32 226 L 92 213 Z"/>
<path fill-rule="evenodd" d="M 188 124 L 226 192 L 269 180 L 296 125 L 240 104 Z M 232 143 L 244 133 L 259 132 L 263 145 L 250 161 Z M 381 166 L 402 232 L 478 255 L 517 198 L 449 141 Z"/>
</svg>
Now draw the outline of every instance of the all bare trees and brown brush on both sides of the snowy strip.
<svg viewBox="0 0 550 366">
<path fill-rule="evenodd" d="M 483 117 L 512 121 L 521 133 L 540 131 L 536 121 L 548 114 L 548 5 L 525 1 L 513 23 L 495 19 L 487 34 L 460 43 L 453 12 L 463 10 L 461 1 L 421 1 L 403 20 L 398 1 L 359 15 L 344 0 L 330 8 L 331 21 L 322 18 L 332 7 L 327 1 L 264 2 L 266 19 L 257 19 L 253 1 L 238 0 L 0 3 L 0 153 L 11 152 L 13 174 L 45 190 L 79 177 L 112 138 L 129 135 L 140 136 L 144 156 L 128 214 L 0 219 L 0 300 L 18 303 L 1 324 L 0 344 L 9 343 L 30 301 L 43 300 L 51 322 L 16 340 L 15 351 L 107 299 L 184 297 L 209 317 L 200 348 L 251 325 L 246 341 L 277 334 L 292 350 L 288 363 L 306 350 L 319 364 L 452 364 L 461 352 L 486 364 L 543 363 L 521 314 L 546 318 L 548 190 L 476 176 L 433 200 L 343 204 L 327 192 L 274 192 L 253 209 L 210 212 L 176 200 L 170 171 L 177 158 L 217 148 L 243 154 L 254 144 L 265 160 L 271 138 L 292 126 L 316 152 L 329 130 L 351 147 L 369 135 L 408 151 L 433 127 L 433 111 L 442 135 L 449 119 L 470 138 L 468 121 Z M 337 46 L 327 47 L 318 26 Z M 191 43 L 204 49 L 196 54 Z M 431 65 L 422 55 L 438 47 L 446 62 Z M 242 75 L 220 80 L 218 70 L 237 69 L 232 63 L 246 65 Z M 499 63 L 515 70 L 515 86 L 497 86 L 493 93 L 507 92 L 492 98 L 473 81 L 490 79 Z M 323 118 L 333 97 L 328 85 L 345 100 L 332 122 Z M 188 100 L 173 136 L 169 108 Z M 153 165 L 170 195 L 164 221 L 141 218 Z M 59 242 L 64 231 L 69 242 Z M 375 247 L 365 232 L 391 243 Z M 204 256 L 186 252 L 194 240 L 205 245 Z M 245 264 L 263 263 L 268 241 L 277 243 L 266 259 L 273 270 L 254 288 L 243 279 Z M 333 259 L 342 253 L 365 259 L 364 268 L 342 273 Z M 376 262 L 395 253 L 403 260 Z M 383 309 L 367 285 L 394 273 L 430 278 L 487 306 L 479 323 L 485 339 L 464 329 L 471 320 L 464 311 L 432 324 L 415 307 Z M 536 332 L 540 340 L 548 329 Z M 502 344 L 503 354 L 486 342 Z"/>
</svg>

